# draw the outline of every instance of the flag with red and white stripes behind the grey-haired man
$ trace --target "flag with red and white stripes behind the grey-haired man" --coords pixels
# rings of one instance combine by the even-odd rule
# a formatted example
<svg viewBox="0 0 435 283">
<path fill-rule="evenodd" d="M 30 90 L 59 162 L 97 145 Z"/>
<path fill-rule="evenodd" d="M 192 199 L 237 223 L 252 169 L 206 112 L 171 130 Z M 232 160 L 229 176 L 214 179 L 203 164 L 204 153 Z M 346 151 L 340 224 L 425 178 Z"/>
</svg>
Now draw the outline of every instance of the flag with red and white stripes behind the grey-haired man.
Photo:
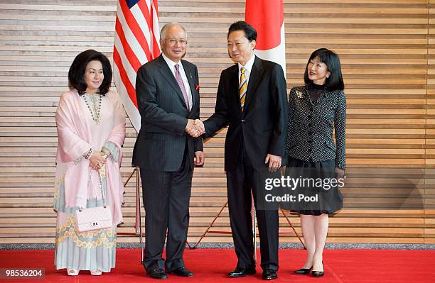
<svg viewBox="0 0 435 283">
<path fill-rule="evenodd" d="M 136 73 L 160 55 L 157 0 L 119 0 L 113 48 L 113 78 L 137 132 L 141 116 L 136 101 Z"/>
</svg>

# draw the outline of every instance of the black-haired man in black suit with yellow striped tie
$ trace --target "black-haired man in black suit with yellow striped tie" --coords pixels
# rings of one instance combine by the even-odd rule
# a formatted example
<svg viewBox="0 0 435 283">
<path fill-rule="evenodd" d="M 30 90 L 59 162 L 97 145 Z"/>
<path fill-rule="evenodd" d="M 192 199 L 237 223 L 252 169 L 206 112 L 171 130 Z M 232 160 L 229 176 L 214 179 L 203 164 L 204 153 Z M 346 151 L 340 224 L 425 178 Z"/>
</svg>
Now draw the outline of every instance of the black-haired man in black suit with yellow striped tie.
<svg viewBox="0 0 435 283">
<path fill-rule="evenodd" d="M 228 277 L 255 273 L 251 190 L 257 203 L 260 170 L 281 167 L 287 99 L 280 65 L 254 55 L 257 31 L 244 21 L 228 30 L 228 53 L 236 63 L 222 71 L 215 113 L 204 122 L 205 137 L 229 125 L 225 139 L 228 207 L 237 267 Z M 278 211 L 257 210 L 263 279 L 277 278 Z"/>
</svg>

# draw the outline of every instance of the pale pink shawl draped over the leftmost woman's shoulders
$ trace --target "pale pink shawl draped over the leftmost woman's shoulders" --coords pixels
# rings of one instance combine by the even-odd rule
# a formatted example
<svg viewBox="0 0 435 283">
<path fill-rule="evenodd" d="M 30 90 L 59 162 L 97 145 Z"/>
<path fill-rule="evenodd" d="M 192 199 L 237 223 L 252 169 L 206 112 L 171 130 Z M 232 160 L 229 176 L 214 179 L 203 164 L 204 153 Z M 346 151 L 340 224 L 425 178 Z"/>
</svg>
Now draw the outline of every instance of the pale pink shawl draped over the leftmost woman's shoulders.
<svg viewBox="0 0 435 283">
<path fill-rule="evenodd" d="M 118 162 L 107 158 L 107 199 L 112 209 L 114 225 L 122 222 L 122 201 L 124 186 L 119 167 L 122 161 L 122 144 L 125 138 L 125 113 L 115 91 L 109 91 L 106 96 L 114 106 L 114 127 L 109 138 L 119 148 Z M 87 180 L 90 173 L 90 161 L 82 158 L 77 164 L 74 161 L 91 148 L 90 127 L 87 119 L 80 117 L 80 96 L 76 90 L 67 91 L 60 96 L 56 111 L 56 126 L 58 128 L 58 153 L 56 156 L 56 178 L 65 175 L 65 206 L 86 207 Z M 99 152 L 101 148 L 94 148 Z"/>
</svg>

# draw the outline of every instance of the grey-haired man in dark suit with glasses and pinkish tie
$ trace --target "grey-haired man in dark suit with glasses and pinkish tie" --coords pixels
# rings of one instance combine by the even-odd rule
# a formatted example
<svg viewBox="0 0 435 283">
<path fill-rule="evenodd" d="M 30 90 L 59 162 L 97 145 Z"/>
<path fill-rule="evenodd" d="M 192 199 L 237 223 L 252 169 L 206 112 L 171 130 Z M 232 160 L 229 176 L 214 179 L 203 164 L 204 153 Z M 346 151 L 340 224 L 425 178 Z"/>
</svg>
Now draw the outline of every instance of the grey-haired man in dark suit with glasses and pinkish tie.
<svg viewBox="0 0 435 283">
<path fill-rule="evenodd" d="M 183 250 L 193 167 L 203 165 L 204 153 L 202 140 L 186 133 L 188 128 L 195 136 L 202 132 L 194 128 L 200 113 L 198 69 L 181 60 L 186 54 L 186 30 L 178 23 L 168 23 L 160 37 L 162 55 L 137 72 L 141 130 L 132 163 L 141 168 L 146 210 L 143 265 L 150 277 L 166 279 L 166 273 L 193 276 L 184 265 Z"/>
</svg>

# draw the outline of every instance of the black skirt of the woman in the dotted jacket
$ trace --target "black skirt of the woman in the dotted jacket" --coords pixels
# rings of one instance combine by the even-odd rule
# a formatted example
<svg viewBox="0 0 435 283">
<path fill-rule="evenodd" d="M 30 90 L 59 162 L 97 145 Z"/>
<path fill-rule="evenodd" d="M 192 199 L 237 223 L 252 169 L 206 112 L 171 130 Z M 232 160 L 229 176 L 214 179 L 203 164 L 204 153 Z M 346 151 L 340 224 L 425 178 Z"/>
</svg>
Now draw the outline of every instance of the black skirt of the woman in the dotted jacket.
<svg viewBox="0 0 435 283">
<path fill-rule="evenodd" d="M 305 168 L 305 169 L 301 169 Z M 301 173 L 304 172 L 304 173 Z M 309 172 L 309 173 L 307 173 Z M 319 161 L 319 162 L 307 162 L 304 160 L 299 160 L 293 157 L 289 158 L 289 162 L 286 167 L 286 175 L 299 175 L 309 174 L 311 178 L 320 179 L 332 179 L 335 178 L 335 160 Z M 307 177 L 307 176 L 302 176 Z M 327 189 L 316 188 L 316 189 L 303 189 L 303 193 L 306 196 L 313 196 L 313 194 L 318 194 L 318 201 L 306 202 L 304 204 L 297 205 L 297 209 L 292 209 L 291 204 L 284 209 L 289 209 L 296 213 L 301 213 L 305 215 L 319 216 L 323 213 L 335 213 L 343 207 L 343 194 L 341 194 L 338 186 L 328 186 Z"/>
</svg>

